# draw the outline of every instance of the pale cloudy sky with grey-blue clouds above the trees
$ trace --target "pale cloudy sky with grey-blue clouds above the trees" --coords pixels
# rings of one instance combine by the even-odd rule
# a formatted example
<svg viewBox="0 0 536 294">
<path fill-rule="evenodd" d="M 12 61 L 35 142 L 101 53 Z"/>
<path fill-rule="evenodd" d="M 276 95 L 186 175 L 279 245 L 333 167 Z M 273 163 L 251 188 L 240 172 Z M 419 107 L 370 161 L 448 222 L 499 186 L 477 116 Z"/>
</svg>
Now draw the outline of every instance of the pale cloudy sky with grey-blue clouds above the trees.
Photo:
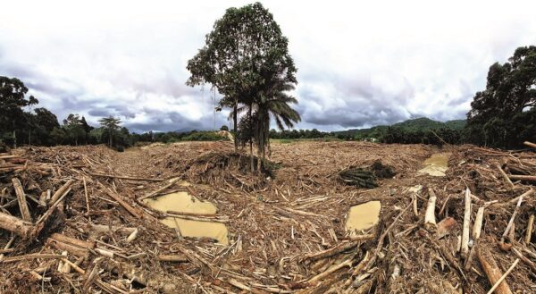
<svg viewBox="0 0 536 294">
<path fill-rule="evenodd" d="M 115 115 L 136 131 L 209 130 L 213 95 L 185 85 L 186 63 L 226 8 L 248 3 L 9 1 L 0 75 L 23 80 L 60 120 Z M 298 128 L 464 118 L 490 64 L 536 45 L 534 1 L 262 3 L 297 63 Z"/>
</svg>

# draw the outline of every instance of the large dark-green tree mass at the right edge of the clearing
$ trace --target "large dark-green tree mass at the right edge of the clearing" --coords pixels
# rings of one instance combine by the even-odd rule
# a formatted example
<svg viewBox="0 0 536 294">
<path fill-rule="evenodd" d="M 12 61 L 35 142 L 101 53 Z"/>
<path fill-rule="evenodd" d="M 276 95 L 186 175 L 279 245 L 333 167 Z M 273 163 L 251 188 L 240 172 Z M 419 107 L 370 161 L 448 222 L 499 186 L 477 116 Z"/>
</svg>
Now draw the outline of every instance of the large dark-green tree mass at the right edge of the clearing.
<svg viewBox="0 0 536 294">
<path fill-rule="evenodd" d="M 515 50 L 507 63 L 494 63 L 486 89 L 477 92 L 467 113 L 466 131 L 473 143 L 518 147 L 536 138 L 536 46 Z"/>
</svg>

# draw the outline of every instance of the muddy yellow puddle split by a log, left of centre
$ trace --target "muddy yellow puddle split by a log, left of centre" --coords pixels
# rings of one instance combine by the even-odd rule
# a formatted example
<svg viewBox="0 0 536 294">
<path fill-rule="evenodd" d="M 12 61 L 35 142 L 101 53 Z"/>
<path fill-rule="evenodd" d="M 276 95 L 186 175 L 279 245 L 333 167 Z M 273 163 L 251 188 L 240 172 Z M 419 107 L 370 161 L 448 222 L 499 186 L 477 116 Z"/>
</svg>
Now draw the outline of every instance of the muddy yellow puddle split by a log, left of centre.
<svg viewBox="0 0 536 294">
<path fill-rule="evenodd" d="M 181 186 L 188 186 L 188 183 L 181 183 Z M 200 201 L 186 191 L 163 195 L 155 199 L 147 198 L 143 201 L 147 206 L 164 213 L 176 212 L 201 216 L 215 215 L 217 211 L 213 203 Z M 161 222 L 170 228 L 178 229 L 180 235 L 184 237 L 215 239 L 218 243 L 229 244 L 229 231 L 224 223 L 193 221 L 172 216 L 163 218 Z"/>
</svg>

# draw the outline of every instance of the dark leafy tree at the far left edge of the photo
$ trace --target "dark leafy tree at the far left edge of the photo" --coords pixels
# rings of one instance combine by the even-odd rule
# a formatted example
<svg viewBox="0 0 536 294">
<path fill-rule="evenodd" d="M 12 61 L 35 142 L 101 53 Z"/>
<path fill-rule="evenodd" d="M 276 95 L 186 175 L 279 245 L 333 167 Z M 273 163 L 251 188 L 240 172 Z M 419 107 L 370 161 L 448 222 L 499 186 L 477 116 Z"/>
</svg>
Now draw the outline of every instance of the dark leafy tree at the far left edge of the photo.
<svg viewBox="0 0 536 294">
<path fill-rule="evenodd" d="M 26 122 L 23 107 L 38 104 L 38 99 L 26 98 L 28 88 L 21 80 L 0 76 L 0 132 L 13 132 L 13 145 L 17 145 L 17 130 Z"/>
</svg>

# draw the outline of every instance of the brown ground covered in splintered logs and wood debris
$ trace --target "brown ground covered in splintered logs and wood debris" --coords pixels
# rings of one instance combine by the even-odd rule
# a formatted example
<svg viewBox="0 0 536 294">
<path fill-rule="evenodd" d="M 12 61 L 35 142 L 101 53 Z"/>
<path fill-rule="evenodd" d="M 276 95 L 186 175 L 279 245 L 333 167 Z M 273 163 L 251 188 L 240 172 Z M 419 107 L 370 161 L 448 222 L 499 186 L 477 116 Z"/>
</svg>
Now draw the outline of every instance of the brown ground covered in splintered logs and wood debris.
<svg viewBox="0 0 536 294">
<path fill-rule="evenodd" d="M 0 162 L 2 210 L 21 217 L 17 178 L 37 200 L 29 200 L 31 222 L 24 225 L 38 228 L 36 220 L 51 214 L 35 235 L 13 238 L 11 247 L 12 232 L 0 229 L 0 291 L 485 293 L 493 283 L 481 259 L 493 259 L 502 274 L 516 258 L 522 261 L 499 288 L 536 291 L 536 238 L 528 229 L 536 196 L 531 181 L 510 185 L 498 171 L 534 175 L 536 154 L 365 142 L 294 142 L 271 149 L 270 171 L 254 176 L 247 173 L 247 154 L 233 154 L 230 142 L 122 153 L 102 146 L 13 150 L 20 163 L 7 161 L 3 170 Z M 417 172 L 431 155 L 446 152 L 446 176 Z M 378 179 L 374 189 L 340 181 L 339 172 L 376 161 L 396 175 Z M 175 178 L 191 185 L 174 185 Z M 69 180 L 71 190 L 54 206 L 47 191 L 54 194 Z M 422 189 L 412 189 L 417 185 Z M 469 250 L 462 245 L 458 252 L 467 188 L 473 194 Z M 215 215 L 182 217 L 225 223 L 229 245 L 180 236 L 158 221 L 163 212 L 140 200 L 177 190 L 217 207 Z M 437 197 L 431 206 L 437 225 L 425 223 L 431 196 Z M 349 236 L 349 208 L 372 200 L 381 201 L 380 222 Z M 477 237 L 473 223 L 481 207 Z M 501 241 L 515 211 L 514 228 Z"/>
</svg>

